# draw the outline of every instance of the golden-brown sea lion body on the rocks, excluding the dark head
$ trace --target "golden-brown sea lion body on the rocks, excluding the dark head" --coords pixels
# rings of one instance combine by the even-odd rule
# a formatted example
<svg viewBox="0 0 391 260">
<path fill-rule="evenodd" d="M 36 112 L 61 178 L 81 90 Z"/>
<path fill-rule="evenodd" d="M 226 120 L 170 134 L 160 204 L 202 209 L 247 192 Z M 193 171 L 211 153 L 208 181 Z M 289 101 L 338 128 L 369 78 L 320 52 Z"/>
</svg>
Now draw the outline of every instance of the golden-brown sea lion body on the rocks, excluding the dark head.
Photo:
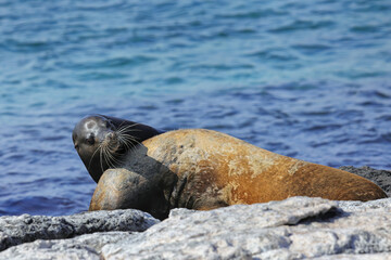
<svg viewBox="0 0 391 260">
<path fill-rule="evenodd" d="M 336 200 L 387 197 L 375 183 L 331 167 L 278 155 L 205 129 L 169 131 L 130 151 L 106 170 L 90 210 L 136 208 L 155 218 L 169 209 L 207 210 L 291 196 Z"/>
</svg>

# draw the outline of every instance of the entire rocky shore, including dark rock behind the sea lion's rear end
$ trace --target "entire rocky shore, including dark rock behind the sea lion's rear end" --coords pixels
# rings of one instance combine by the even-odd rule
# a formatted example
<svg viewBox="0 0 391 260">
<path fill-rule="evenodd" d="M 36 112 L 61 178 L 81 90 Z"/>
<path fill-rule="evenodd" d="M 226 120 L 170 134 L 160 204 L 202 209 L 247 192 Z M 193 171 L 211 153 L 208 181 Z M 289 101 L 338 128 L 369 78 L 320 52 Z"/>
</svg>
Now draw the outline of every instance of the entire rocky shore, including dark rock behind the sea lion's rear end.
<svg viewBox="0 0 391 260">
<path fill-rule="evenodd" d="M 391 171 L 341 169 L 391 195 Z M 391 198 L 0 217 L 0 259 L 391 259 Z"/>
</svg>

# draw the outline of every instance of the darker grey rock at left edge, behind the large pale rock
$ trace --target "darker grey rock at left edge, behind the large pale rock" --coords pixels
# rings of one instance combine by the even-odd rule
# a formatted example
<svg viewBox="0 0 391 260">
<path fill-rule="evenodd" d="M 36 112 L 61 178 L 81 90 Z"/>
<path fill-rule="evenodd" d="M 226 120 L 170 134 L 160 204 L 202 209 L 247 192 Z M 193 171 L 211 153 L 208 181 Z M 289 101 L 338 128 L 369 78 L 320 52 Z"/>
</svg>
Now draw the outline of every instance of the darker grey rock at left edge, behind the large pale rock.
<svg viewBox="0 0 391 260">
<path fill-rule="evenodd" d="M 64 217 L 0 217 L 0 250 L 36 239 L 70 238 L 105 231 L 141 232 L 160 222 L 139 210 L 84 212 Z"/>
</svg>

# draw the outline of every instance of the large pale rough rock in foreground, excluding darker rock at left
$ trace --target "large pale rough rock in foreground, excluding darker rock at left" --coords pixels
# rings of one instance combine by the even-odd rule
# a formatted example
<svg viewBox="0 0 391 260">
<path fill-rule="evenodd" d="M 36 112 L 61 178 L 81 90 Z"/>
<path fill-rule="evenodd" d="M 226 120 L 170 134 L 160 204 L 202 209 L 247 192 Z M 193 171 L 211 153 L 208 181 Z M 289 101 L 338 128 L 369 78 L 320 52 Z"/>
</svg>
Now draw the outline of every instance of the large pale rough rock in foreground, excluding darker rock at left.
<svg viewBox="0 0 391 260">
<path fill-rule="evenodd" d="M 292 197 L 211 211 L 174 209 L 142 233 L 36 240 L 0 259 L 391 259 L 391 198 Z"/>
</svg>

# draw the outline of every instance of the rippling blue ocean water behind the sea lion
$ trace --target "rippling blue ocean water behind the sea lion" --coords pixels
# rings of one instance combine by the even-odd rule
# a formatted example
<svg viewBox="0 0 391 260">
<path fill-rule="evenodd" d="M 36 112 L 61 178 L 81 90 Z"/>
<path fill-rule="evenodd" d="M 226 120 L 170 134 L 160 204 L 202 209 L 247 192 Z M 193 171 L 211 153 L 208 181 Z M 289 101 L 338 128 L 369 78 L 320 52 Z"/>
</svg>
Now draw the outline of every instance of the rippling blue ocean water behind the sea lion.
<svg viewBox="0 0 391 260">
<path fill-rule="evenodd" d="M 391 2 L 0 0 L 0 214 L 94 190 L 89 114 L 207 128 L 331 167 L 391 168 Z"/>
</svg>

